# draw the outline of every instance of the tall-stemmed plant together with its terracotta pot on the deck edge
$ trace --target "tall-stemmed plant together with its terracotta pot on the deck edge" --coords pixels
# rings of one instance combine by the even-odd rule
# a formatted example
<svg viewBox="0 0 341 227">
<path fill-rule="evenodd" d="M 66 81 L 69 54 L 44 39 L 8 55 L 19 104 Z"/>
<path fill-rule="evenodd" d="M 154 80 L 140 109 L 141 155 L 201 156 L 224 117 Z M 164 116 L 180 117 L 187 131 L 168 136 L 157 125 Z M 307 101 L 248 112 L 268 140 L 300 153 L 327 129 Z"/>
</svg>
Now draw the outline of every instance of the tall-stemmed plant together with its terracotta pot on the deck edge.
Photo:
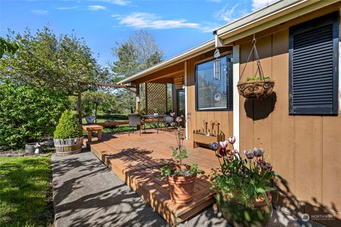
<svg viewBox="0 0 341 227">
<path fill-rule="evenodd" d="M 175 114 L 171 114 L 174 116 Z M 187 157 L 187 150 L 183 148 L 183 129 L 180 123 L 183 121 L 183 116 L 178 116 L 175 122 L 171 125 L 175 126 L 175 138 L 177 146 L 173 148 L 173 165 L 163 165 L 160 168 L 160 176 L 167 177 L 168 188 L 171 194 L 171 199 L 179 204 L 186 204 L 193 200 L 193 192 L 195 179 L 197 174 L 204 174 L 204 171 L 199 170 L 196 164 L 186 165 L 183 160 Z"/>
</svg>

